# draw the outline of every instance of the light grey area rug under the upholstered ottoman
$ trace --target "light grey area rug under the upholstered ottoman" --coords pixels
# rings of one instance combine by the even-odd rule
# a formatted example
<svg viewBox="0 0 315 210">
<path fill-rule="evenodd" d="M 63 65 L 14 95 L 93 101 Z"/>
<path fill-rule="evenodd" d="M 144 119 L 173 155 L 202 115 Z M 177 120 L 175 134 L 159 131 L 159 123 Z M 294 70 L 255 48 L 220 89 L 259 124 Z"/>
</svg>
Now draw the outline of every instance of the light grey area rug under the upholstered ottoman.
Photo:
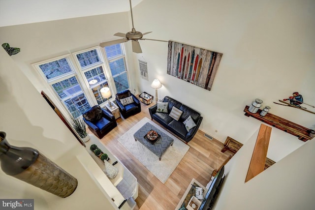
<svg viewBox="0 0 315 210">
<path fill-rule="evenodd" d="M 151 123 L 166 135 L 174 139 L 173 146 L 170 146 L 162 155 L 161 160 L 152 151 L 143 146 L 140 142 L 135 141 L 133 134 L 139 130 L 145 123 Z M 171 176 L 176 166 L 180 163 L 189 146 L 177 139 L 174 135 L 160 127 L 158 124 L 148 118 L 144 118 L 130 128 L 123 136 L 118 139 L 135 158 L 137 158 L 154 176 L 162 183 Z"/>
</svg>

